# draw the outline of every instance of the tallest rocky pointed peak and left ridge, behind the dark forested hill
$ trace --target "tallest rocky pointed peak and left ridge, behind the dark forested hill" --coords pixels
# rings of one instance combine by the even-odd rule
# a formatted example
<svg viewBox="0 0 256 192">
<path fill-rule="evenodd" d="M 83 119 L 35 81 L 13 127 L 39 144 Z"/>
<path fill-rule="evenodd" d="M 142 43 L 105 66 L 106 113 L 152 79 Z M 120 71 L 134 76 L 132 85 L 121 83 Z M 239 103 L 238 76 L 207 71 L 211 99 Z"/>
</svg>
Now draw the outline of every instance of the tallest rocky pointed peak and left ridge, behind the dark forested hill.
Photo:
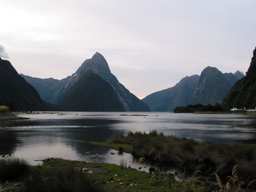
<svg viewBox="0 0 256 192">
<path fill-rule="evenodd" d="M 63 102 L 65 95 L 68 94 L 70 89 L 79 80 L 83 71 L 91 71 L 94 74 L 99 75 L 114 89 L 115 95 L 118 101 L 122 104 L 124 111 L 150 111 L 149 107 L 127 90 L 124 85 L 119 83 L 116 76 L 114 76 L 105 58 L 98 52 L 96 52 L 91 59 L 85 60 L 82 65 L 76 70 L 76 73 L 67 78 L 61 79 L 39 79 L 31 78 L 29 76 L 23 77 L 32 84 L 39 92 L 40 96 L 48 102 L 54 104 L 60 104 Z M 47 85 L 41 86 L 45 84 Z M 67 97 L 66 97 L 67 99 Z"/>
</svg>

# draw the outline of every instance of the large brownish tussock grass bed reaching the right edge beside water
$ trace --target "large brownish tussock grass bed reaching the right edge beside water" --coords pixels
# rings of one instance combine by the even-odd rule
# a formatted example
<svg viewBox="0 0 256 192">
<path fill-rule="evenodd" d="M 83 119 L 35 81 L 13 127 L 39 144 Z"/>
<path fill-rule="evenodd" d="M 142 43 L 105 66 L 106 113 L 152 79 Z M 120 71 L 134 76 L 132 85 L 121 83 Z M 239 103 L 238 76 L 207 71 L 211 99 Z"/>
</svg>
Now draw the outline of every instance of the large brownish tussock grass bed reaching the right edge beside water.
<svg viewBox="0 0 256 192">
<path fill-rule="evenodd" d="M 238 164 L 240 179 L 249 182 L 256 177 L 256 150 L 252 145 L 199 143 L 156 131 L 128 132 L 115 136 L 112 142 L 132 144 L 134 156 L 184 167 L 189 172 L 217 173 L 224 178 Z"/>
</svg>

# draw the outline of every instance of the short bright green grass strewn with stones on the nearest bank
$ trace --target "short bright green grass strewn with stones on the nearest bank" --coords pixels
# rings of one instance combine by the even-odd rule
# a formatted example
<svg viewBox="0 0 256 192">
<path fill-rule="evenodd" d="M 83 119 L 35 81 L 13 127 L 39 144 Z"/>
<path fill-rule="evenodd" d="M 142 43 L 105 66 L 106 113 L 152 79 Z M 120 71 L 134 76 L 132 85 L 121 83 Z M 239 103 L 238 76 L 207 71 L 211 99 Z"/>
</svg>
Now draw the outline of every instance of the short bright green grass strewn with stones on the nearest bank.
<svg viewBox="0 0 256 192">
<path fill-rule="evenodd" d="M 58 170 L 66 169 L 68 167 L 77 167 L 77 168 L 87 168 L 92 170 L 90 173 L 92 180 L 97 180 L 98 183 L 103 183 L 105 180 L 114 181 L 114 183 L 104 184 L 103 188 L 105 191 L 114 190 L 116 192 L 119 191 L 131 191 L 131 192 L 153 192 L 153 191 L 173 191 L 171 186 L 171 179 L 165 178 L 164 176 L 161 177 L 159 180 L 151 180 L 152 177 L 149 173 L 140 173 L 138 174 L 138 170 L 136 169 L 122 169 L 119 165 L 115 164 L 106 164 L 106 163 L 85 163 L 84 161 L 70 161 L 64 159 L 50 159 L 49 161 L 45 161 L 44 164 L 41 166 L 43 171 L 47 170 L 54 170 L 55 172 Z M 38 169 L 38 168 L 34 168 Z M 93 170 L 100 170 L 99 172 L 94 172 Z M 89 174 L 89 173 L 88 173 Z M 118 175 L 115 177 L 115 175 Z M 120 182 L 117 180 L 120 179 L 124 185 L 120 185 Z M 125 185 L 127 182 L 132 184 L 131 182 L 136 181 L 138 186 L 128 187 Z M 150 181 L 150 184 L 148 183 Z M 124 188 L 123 188 L 124 187 Z M 163 187 L 163 188 L 161 188 Z M 182 190 L 182 184 L 179 183 L 176 186 L 179 190 Z"/>
</svg>

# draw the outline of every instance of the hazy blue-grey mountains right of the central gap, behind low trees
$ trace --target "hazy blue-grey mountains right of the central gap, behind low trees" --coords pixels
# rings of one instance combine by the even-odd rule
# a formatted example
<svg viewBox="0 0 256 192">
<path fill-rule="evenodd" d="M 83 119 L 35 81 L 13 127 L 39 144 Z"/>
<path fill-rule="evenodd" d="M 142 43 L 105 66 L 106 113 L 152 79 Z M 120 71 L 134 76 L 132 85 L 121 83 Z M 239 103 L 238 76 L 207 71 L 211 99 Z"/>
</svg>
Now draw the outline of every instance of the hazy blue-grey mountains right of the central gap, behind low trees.
<svg viewBox="0 0 256 192">
<path fill-rule="evenodd" d="M 152 93 L 142 99 L 152 111 L 173 111 L 178 106 L 201 103 L 220 103 L 231 87 L 244 74 L 221 73 L 215 67 L 206 67 L 201 75 L 186 76 L 174 87 Z"/>
</svg>

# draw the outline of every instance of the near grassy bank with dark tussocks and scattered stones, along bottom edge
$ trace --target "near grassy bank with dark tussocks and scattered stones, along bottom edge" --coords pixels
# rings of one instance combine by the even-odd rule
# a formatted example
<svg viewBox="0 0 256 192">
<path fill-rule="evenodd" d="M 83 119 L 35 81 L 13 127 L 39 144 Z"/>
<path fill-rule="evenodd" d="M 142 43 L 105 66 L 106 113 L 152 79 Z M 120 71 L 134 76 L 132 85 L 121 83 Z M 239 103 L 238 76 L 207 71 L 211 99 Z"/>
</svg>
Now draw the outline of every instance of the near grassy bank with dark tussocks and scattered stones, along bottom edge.
<svg viewBox="0 0 256 192">
<path fill-rule="evenodd" d="M 23 165 L 24 162 L 20 166 Z M 27 163 L 25 165 L 28 167 Z M 1 178 L 6 191 L 203 191 L 203 188 L 196 184 L 197 177 L 178 182 L 171 174 L 152 175 L 114 164 L 54 158 L 44 160 L 43 165 L 29 167 L 17 174 L 17 177 L 5 182 L 7 179 Z M 190 190 L 191 188 L 193 190 Z"/>
</svg>

